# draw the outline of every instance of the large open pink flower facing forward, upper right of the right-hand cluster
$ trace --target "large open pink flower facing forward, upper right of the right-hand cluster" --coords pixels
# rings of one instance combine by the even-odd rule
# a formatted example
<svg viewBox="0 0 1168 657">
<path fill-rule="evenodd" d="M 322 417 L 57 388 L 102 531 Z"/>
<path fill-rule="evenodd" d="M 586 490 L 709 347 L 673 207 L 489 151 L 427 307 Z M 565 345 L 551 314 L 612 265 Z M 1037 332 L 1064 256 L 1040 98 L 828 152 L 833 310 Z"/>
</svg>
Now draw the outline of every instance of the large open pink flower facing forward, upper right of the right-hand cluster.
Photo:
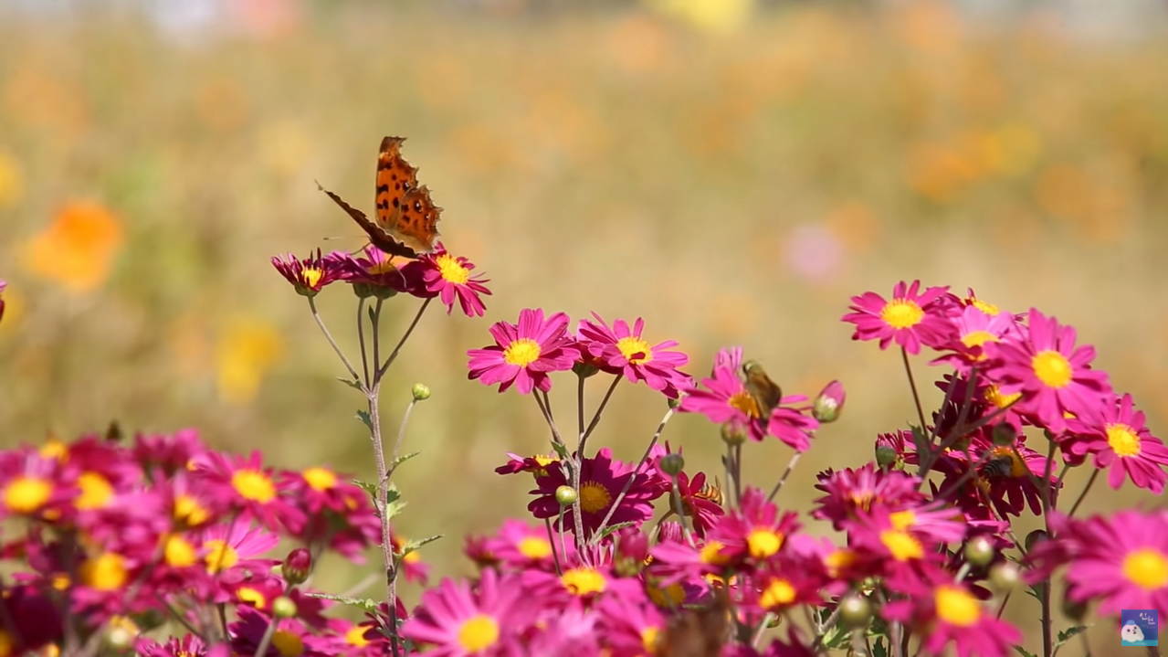
<svg viewBox="0 0 1168 657">
<path fill-rule="evenodd" d="M 1107 373 L 1091 369 L 1094 347 L 1075 346 L 1075 328 L 1030 309 L 1026 340 L 987 343 L 987 376 L 1002 394 L 1021 393 L 1022 413 L 1054 434 L 1066 427 L 1065 414 L 1078 416 L 1111 399 Z"/>
</svg>

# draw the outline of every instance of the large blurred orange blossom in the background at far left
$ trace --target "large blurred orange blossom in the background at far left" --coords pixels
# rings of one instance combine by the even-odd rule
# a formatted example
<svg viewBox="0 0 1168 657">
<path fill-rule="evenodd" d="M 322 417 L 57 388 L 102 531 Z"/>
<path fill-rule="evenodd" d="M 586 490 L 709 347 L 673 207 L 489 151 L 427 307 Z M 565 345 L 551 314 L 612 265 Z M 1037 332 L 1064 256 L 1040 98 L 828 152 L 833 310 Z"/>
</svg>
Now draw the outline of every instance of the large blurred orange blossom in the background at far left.
<svg viewBox="0 0 1168 657">
<path fill-rule="evenodd" d="M 67 203 L 44 230 L 25 244 L 28 269 L 74 292 L 88 292 L 110 275 L 121 248 L 121 221 L 91 201 Z"/>
</svg>

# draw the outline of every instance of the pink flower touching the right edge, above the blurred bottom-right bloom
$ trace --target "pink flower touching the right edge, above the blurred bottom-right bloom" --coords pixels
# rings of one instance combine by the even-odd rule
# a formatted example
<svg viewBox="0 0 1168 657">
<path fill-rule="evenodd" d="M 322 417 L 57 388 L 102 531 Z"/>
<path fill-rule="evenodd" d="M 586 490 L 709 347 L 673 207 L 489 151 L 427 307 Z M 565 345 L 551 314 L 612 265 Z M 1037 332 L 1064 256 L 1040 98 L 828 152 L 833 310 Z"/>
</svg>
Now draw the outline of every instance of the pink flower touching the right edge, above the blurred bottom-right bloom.
<svg viewBox="0 0 1168 657">
<path fill-rule="evenodd" d="M 1093 454 L 1096 468 L 1107 470 L 1111 487 L 1119 490 L 1131 478 L 1138 487 L 1163 492 L 1168 448 L 1148 431 L 1132 395 L 1085 408 L 1066 424 L 1072 438 L 1065 449 L 1076 456 Z"/>
</svg>

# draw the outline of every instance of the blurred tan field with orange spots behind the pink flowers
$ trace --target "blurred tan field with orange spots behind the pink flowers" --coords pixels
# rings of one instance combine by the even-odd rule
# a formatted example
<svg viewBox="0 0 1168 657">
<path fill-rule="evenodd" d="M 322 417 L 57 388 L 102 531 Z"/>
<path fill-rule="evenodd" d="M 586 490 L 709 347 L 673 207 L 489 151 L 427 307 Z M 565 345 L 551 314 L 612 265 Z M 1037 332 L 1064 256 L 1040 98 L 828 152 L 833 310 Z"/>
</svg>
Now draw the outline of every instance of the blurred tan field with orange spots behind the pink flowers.
<svg viewBox="0 0 1168 657">
<path fill-rule="evenodd" d="M 410 385 L 433 390 L 397 482 L 402 533 L 446 534 L 422 552 L 434 576 L 470 572 L 464 533 L 526 516 L 530 482 L 493 469 L 548 431 L 467 381 L 465 351 L 527 306 L 644 317 L 696 374 L 743 345 L 787 392 L 844 381 L 783 493 L 799 510 L 816 471 L 915 417 L 898 355 L 839 320 L 901 279 L 1075 325 L 1162 431 L 1166 37 L 1168 7 L 1141 0 L 0 0 L 0 441 L 117 419 L 373 478 L 362 400 L 269 258 L 363 243 L 314 180 L 371 209 L 385 134 L 494 290 L 486 318 L 427 313 L 385 386 L 390 434 Z M 416 303 L 390 304 L 385 340 Z M 355 354 L 354 297 L 320 306 Z M 943 372 L 916 367 L 936 403 Z M 592 444 L 635 459 L 663 410 L 621 386 Z M 719 470 L 702 417 L 665 438 Z M 763 486 L 790 456 L 746 454 Z M 1100 485 L 1086 509 L 1157 503 Z M 370 569 L 326 562 L 317 585 Z"/>
</svg>

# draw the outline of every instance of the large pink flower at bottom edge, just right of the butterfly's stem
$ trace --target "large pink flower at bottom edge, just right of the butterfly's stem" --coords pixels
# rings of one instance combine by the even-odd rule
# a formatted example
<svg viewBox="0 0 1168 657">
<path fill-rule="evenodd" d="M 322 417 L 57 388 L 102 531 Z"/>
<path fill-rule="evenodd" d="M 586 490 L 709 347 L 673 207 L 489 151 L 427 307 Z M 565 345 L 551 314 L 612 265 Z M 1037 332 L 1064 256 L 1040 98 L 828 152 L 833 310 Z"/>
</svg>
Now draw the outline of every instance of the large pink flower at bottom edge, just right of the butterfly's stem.
<svg viewBox="0 0 1168 657">
<path fill-rule="evenodd" d="M 519 632 L 529 627 L 530 597 L 519 581 L 482 572 L 473 589 L 466 581 L 443 580 L 422 594 L 402 636 L 429 644 L 433 657 L 522 655 Z"/>
</svg>

